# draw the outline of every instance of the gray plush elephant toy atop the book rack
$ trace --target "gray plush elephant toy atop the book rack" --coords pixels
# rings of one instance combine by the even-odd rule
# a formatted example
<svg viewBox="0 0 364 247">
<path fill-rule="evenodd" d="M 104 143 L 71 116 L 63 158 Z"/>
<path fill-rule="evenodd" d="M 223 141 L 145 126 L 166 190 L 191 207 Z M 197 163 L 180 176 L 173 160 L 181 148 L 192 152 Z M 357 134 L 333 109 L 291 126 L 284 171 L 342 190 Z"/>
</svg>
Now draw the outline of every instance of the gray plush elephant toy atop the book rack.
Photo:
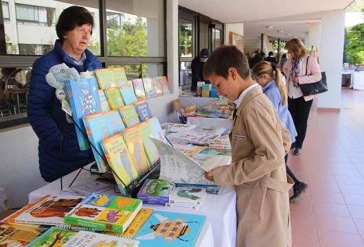
<svg viewBox="0 0 364 247">
<path fill-rule="evenodd" d="M 45 80 L 56 89 L 56 97 L 59 100 L 65 99 L 65 82 L 67 80 L 80 80 L 80 75 L 75 68 L 69 68 L 65 63 L 56 64 L 49 69 Z"/>
</svg>

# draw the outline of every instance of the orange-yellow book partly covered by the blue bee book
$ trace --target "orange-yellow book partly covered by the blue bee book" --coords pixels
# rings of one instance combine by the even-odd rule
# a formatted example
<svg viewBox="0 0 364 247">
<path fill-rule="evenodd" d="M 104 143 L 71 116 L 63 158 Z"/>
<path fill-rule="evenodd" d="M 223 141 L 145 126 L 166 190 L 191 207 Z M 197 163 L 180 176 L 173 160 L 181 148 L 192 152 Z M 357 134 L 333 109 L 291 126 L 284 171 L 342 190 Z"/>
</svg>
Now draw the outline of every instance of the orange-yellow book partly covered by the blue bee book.
<svg viewBox="0 0 364 247">
<path fill-rule="evenodd" d="M 107 235 L 132 238 L 135 236 L 135 234 L 137 234 L 141 226 L 143 226 L 143 224 L 148 220 L 150 215 L 152 215 L 153 211 L 154 209 L 141 208 L 139 213 L 137 213 L 137 216 L 135 216 L 134 220 L 130 223 L 128 228 L 126 228 L 124 233 L 113 233 L 109 231 L 106 231 L 104 233 Z"/>
</svg>

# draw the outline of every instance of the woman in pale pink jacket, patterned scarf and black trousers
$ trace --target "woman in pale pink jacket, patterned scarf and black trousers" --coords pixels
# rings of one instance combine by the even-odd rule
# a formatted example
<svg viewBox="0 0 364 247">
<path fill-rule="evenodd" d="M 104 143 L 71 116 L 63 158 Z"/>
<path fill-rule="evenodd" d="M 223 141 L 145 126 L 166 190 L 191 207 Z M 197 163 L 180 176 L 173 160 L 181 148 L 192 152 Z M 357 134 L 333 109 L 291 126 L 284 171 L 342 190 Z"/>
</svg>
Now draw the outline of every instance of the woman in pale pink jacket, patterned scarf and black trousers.
<svg viewBox="0 0 364 247">
<path fill-rule="evenodd" d="M 307 54 L 306 46 L 298 38 L 289 40 L 284 48 L 291 55 L 284 64 L 283 71 L 286 75 L 288 110 L 292 115 L 297 130 L 293 154 L 299 155 L 306 137 L 307 120 L 312 101 L 314 97 L 317 97 L 317 95 L 302 95 L 299 84 L 313 83 L 321 80 L 321 71 L 316 58 Z"/>
</svg>

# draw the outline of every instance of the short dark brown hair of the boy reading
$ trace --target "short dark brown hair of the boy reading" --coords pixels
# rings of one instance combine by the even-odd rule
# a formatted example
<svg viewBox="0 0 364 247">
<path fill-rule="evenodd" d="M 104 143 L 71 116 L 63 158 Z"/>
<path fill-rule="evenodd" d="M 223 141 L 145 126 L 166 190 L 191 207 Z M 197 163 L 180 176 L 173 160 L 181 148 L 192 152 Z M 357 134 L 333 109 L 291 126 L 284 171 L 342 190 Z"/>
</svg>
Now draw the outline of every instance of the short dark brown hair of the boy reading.
<svg viewBox="0 0 364 247">
<path fill-rule="evenodd" d="M 245 56 L 235 45 L 222 45 L 212 52 L 203 66 L 203 77 L 219 75 L 227 79 L 229 68 L 235 68 L 242 79 L 251 78 L 249 63 Z"/>
</svg>

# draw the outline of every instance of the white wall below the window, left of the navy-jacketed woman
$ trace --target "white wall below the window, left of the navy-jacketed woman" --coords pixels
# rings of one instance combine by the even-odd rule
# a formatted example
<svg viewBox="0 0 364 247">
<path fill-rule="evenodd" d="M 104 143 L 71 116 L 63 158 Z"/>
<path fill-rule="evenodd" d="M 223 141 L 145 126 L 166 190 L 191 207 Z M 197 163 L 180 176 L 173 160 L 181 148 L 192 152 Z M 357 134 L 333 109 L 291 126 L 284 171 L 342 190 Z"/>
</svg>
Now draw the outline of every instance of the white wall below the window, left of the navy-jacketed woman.
<svg viewBox="0 0 364 247">
<path fill-rule="evenodd" d="M 46 184 L 38 165 L 38 137 L 32 127 L 0 132 L 0 187 L 9 207 L 23 207 L 28 193 Z"/>
</svg>

